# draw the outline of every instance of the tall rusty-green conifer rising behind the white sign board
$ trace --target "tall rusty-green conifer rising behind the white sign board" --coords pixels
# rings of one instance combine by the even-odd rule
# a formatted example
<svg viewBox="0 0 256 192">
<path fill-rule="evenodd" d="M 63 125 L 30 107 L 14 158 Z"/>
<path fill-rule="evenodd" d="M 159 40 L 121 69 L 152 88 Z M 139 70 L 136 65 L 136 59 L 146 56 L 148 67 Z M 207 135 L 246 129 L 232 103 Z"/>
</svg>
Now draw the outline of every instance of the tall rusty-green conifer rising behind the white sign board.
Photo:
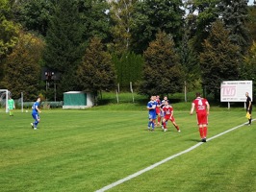
<svg viewBox="0 0 256 192">
<path fill-rule="evenodd" d="M 222 81 L 239 80 L 239 67 L 243 60 L 240 47 L 231 42 L 229 31 L 221 21 L 214 23 L 210 36 L 204 41 L 200 54 L 202 82 L 206 92 L 219 100 Z"/>
</svg>

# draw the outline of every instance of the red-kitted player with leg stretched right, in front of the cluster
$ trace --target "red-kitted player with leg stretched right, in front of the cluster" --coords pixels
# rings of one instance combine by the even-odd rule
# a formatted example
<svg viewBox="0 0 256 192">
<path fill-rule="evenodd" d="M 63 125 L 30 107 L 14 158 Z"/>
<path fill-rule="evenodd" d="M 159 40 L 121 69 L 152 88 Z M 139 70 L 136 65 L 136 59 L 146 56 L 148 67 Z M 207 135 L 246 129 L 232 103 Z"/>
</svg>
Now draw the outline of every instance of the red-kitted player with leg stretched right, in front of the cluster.
<svg viewBox="0 0 256 192">
<path fill-rule="evenodd" d="M 167 131 L 166 122 L 168 120 L 170 120 L 171 123 L 173 124 L 173 126 L 176 128 L 176 130 L 178 132 L 180 132 L 179 126 L 176 124 L 174 116 L 173 116 L 173 108 L 171 106 L 169 106 L 168 101 L 165 102 L 165 106 L 162 108 L 162 110 L 165 113 L 165 117 L 162 121 L 162 124 L 163 124 L 163 127 L 164 127 L 164 132 Z"/>
</svg>

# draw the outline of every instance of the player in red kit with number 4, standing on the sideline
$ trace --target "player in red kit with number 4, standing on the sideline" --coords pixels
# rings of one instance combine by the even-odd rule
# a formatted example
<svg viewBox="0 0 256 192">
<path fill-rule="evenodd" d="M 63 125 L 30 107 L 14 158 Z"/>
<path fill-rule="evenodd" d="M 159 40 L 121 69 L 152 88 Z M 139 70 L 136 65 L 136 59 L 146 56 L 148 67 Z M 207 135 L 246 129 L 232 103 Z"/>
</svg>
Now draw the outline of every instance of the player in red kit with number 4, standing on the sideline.
<svg viewBox="0 0 256 192">
<path fill-rule="evenodd" d="M 195 95 L 196 99 L 192 102 L 191 115 L 193 109 L 195 108 L 197 114 L 197 124 L 199 127 L 200 137 L 202 139 L 201 141 L 206 142 L 210 105 L 206 99 L 201 98 L 200 93 L 196 93 Z"/>
</svg>

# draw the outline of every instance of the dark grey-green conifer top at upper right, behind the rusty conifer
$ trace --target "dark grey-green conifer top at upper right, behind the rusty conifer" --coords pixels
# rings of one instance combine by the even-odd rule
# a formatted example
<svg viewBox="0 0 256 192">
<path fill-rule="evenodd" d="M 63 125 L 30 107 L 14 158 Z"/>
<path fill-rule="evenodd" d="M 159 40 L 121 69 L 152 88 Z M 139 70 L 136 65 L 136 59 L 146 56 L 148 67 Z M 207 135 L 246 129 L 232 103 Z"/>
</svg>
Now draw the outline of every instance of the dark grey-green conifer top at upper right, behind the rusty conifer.
<svg viewBox="0 0 256 192">
<path fill-rule="evenodd" d="M 248 0 L 222 0 L 218 4 L 219 16 L 224 22 L 225 28 L 230 31 L 230 39 L 241 47 L 244 55 L 250 45 L 250 36 L 246 28 L 248 19 Z"/>
</svg>

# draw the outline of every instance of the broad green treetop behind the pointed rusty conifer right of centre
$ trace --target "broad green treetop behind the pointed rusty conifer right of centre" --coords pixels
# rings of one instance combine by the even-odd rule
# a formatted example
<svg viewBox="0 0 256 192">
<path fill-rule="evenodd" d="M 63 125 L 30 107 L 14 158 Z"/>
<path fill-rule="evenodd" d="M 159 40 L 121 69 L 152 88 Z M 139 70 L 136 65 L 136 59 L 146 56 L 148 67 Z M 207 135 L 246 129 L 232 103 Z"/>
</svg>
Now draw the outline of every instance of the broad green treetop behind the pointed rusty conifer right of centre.
<svg viewBox="0 0 256 192">
<path fill-rule="evenodd" d="M 179 46 L 185 14 L 182 7 L 182 0 L 138 1 L 132 15 L 131 50 L 142 54 L 159 30 L 173 36 L 175 45 Z"/>
</svg>

